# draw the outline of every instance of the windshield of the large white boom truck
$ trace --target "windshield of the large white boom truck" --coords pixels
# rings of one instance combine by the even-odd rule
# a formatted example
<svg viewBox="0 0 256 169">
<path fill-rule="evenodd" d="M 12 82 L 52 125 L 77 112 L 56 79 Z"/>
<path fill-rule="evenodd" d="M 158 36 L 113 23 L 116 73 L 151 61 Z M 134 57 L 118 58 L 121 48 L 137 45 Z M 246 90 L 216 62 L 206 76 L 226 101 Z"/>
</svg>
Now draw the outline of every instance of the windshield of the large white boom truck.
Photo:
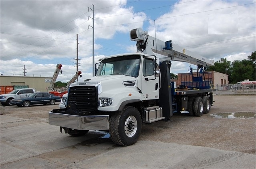
<svg viewBox="0 0 256 169">
<path fill-rule="evenodd" d="M 139 75 L 139 55 L 121 56 L 102 60 L 96 76 L 123 74 L 137 77 Z"/>
</svg>

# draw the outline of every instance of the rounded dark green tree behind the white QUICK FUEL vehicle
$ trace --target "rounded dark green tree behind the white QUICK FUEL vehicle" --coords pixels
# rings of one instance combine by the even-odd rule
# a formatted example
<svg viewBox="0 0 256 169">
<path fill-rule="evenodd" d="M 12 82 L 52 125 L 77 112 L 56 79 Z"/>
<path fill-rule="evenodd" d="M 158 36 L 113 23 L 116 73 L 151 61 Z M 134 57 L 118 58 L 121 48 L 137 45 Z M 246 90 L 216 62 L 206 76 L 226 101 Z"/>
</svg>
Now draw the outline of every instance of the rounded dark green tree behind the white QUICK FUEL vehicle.
<svg viewBox="0 0 256 169">
<path fill-rule="evenodd" d="M 245 79 L 255 80 L 255 64 L 252 60 L 236 60 L 232 62 L 232 74 L 230 83 L 244 81 Z"/>
</svg>

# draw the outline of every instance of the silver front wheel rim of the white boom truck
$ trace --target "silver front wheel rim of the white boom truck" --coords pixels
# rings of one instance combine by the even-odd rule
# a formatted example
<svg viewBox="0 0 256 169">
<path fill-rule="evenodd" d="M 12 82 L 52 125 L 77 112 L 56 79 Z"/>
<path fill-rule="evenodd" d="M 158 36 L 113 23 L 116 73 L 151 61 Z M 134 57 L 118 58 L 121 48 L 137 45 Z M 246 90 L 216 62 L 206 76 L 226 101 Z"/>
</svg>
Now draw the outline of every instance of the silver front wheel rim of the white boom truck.
<svg viewBox="0 0 256 169">
<path fill-rule="evenodd" d="M 125 120 L 125 134 L 128 137 L 133 137 L 133 135 L 135 135 L 136 131 L 137 131 L 137 120 L 134 116 L 130 115 L 129 117 L 127 117 L 127 119 Z"/>
</svg>

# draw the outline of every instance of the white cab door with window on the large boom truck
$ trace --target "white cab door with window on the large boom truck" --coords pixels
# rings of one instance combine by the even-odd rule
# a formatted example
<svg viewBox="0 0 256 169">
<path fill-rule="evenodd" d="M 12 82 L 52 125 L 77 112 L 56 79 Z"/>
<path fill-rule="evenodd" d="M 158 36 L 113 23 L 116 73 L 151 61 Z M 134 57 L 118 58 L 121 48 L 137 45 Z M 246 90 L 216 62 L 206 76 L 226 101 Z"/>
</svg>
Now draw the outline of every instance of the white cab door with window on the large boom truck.
<svg viewBox="0 0 256 169">
<path fill-rule="evenodd" d="M 141 70 L 141 91 L 146 100 L 159 98 L 159 81 L 154 76 L 154 58 L 143 58 L 143 65 Z"/>
</svg>

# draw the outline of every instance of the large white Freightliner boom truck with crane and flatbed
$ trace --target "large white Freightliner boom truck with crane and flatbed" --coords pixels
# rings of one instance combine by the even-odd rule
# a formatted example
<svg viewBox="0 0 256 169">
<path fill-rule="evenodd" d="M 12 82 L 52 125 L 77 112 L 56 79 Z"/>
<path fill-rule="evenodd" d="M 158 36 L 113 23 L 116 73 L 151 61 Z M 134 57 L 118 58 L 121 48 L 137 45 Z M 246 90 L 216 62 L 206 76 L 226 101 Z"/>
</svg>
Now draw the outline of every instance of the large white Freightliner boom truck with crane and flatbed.
<svg viewBox="0 0 256 169">
<path fill-rule="evenodd" d="M 177 89 L 169 74 L 171 60 L 195 64 L 200 70 L 213 61 L 151 37 L 141 28 L 131 30 L 130 37 L 137 42 L 137 53 L 101 59 L 95 77 L 70 85 L 66 108 L 50 111 L 49 124 L 73 136 L 107 130 L 114 143 L 128 146 L 138 140 L 145 123 L 168 121 L 173 113 L 209 113 L 216 91 L 209 81 L 195 79 Z M 203 74 L 198 75 L 200 79 Z"/>
</svg>

